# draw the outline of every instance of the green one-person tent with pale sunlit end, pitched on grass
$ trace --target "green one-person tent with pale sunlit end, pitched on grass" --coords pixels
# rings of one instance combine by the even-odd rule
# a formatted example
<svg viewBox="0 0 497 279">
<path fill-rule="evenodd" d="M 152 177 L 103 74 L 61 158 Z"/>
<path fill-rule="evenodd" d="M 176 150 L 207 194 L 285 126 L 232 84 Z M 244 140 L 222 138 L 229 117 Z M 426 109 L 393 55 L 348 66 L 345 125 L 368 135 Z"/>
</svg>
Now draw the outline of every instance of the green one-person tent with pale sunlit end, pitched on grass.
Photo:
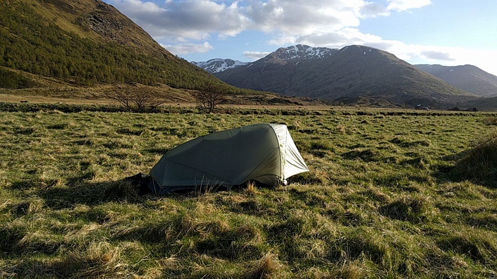
<svg viewBox="0 0 497 279">
<path fill-rule="evenodd" d="M 152 190 L 223 185 L 248 180 L 276 185 L 309 171 L 286 125 L 254 124 L 208 134 L 169 150 L 152 168 Z"/>
</svg>

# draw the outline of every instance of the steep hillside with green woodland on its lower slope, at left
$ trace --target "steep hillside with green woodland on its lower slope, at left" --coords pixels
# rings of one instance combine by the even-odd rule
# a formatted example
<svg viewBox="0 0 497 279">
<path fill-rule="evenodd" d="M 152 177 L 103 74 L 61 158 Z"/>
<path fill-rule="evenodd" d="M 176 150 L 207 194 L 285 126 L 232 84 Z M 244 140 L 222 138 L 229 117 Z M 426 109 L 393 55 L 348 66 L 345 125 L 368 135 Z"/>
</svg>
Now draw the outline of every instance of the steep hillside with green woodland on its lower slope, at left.
<svg viewBox="0 0 497 279">
<path fill-rule="evenodd" d="M 196 89 L 209 81 L 224 84 L 169 53 L 101 0 L 2 0 L 0 9 L 0 81 L 19 79 L 0 87 L 32 86 L 27 74 L 77 87 L 140 83 Z"/>
</svg>

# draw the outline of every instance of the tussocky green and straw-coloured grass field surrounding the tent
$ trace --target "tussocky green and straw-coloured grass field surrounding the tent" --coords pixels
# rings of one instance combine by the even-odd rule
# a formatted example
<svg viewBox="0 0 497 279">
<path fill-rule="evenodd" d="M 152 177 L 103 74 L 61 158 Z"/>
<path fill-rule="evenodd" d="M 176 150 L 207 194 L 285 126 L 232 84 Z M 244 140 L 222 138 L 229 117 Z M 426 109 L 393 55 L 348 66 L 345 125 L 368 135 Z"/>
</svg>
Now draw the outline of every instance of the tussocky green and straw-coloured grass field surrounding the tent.
<svg viewBox="0 0 497 279">
<path fill-rule="evenodd" d="M 249 112 L 0 112 L 0 277 L 497 277 L 497 182 L 467 157 L 493 116 Z M 261 122 L 287 124 L 311 171 L 165 197 L 120 181 Z"/>
</svg>

